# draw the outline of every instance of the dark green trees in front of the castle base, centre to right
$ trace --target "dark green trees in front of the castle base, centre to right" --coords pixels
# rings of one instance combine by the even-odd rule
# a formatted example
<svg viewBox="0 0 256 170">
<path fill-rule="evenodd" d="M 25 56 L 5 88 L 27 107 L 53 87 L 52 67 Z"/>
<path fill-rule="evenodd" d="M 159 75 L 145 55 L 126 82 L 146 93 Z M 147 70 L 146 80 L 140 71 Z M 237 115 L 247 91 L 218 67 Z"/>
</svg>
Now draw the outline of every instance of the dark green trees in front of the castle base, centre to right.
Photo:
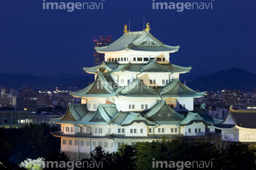
<svg viewBox="0 0 256 170">
<path fill-rule="evenodd" d="M 188 143 L 163 138 L 154 142 L 122 145 L 113 154 L 96 147 L 90 159 L 81 162 L 103 163 L 103 169 L 255 169 L 255 147 L 240 142 L 231 143 L 226 149 L 217 149 L 209 142 Z M 83 167 L 84 169 L 88 167 Z M 89 167 L 90 169 L 92 167 Z M 100 167 L 95 167 L 100 169 Z"/>
</svg>

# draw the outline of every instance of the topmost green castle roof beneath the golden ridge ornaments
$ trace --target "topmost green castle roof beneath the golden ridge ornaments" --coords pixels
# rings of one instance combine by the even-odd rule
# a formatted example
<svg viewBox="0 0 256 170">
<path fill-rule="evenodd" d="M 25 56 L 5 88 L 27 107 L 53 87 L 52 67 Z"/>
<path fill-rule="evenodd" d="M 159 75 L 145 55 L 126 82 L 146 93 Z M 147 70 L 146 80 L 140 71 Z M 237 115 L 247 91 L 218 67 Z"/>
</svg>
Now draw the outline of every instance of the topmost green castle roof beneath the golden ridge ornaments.
<svg viewBox="0 0 256 170">
<path fill-rule="evenodd" d="M 179 46 L 169 46 L 154 38 L 148 31 L 127 32 L 121 38 L 105 47 L 95 47 L 101 53 L 122 52 L 124 50 L 147 52 L 176 52 Z"/>
</svg>

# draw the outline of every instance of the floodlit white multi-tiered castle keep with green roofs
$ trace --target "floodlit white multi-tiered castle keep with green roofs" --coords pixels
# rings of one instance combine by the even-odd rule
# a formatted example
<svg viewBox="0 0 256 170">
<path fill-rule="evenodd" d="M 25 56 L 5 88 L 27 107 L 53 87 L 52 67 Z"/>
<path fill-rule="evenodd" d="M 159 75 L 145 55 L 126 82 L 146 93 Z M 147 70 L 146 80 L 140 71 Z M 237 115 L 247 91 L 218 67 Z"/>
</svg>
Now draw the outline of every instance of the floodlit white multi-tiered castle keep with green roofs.
<svg viewBox="0 0 256 170">
<path fill-rule="evenodd" d="M 82 99 L 72 104 L 62 118 L 61 151 L 90 153 L 97 146 L 115 152 L 122 144 L 151 142 L 166 135 L 176 139 L 214 132 L 216 123 L 206 108 L 194 106 L 198 93 L 181 83 L 179 74 L 191 67 L 171 64 L 169 54 L 179 46 L 164 45 L 146 30 L 130 32 L 110 45 L 95 47 L 105 54 L 105 62 L 84 67 L 95 74 L 94 83 L 71 93 Z"/>
</svg>

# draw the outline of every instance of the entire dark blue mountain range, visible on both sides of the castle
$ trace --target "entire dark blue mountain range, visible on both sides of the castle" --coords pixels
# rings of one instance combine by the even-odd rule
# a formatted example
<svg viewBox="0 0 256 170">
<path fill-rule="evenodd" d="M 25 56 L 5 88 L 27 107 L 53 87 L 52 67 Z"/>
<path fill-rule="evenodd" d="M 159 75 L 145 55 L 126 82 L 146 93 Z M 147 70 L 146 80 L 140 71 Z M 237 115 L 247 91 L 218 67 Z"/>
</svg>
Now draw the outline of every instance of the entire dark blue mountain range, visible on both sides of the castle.
<svg viewBox="0 0 256 170">
<path fill-rule="evenodd" d="M 186 79 L 187 86 L 199 91 L 220 91 L 223 89 L 237 89 L 241 91 L 255 91 L 256 74 L 243 69 L 232 68 L 228 71 L 219 71 L 215 74 L 198 77 L 191 74 L 191 79 Z M 184 77 L 181 78 L 181 81 Z M 84 89 L 94 81 L 93 74 L 58 74 L 55 76 L 33 76 L 31 74 L 0 74 L 0 84 L 10 89 L 21 89 L 24 85 L 28 88 L 53 90 Z"/>
</svg>

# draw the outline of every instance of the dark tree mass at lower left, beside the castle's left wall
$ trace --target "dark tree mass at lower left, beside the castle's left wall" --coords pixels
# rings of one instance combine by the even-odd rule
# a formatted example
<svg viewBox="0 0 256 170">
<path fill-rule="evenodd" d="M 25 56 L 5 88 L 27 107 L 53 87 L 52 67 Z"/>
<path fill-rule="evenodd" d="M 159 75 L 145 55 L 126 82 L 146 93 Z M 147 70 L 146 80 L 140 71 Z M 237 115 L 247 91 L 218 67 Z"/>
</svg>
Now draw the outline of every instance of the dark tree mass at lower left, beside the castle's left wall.
<svg viewBox="0 0 256 170">
<path fill-rule="evenodd" d="M 55 160 L 63 157 L 64 160 L 65 155 L 60 154 L 60 138 L 50 135 L 50 131 L 58 131 L 58 127 L 42 123 L 18 129 L 0 128 L 0 162 L 6 169 L 17 169 L 27 158 Z"/>
</svg>

